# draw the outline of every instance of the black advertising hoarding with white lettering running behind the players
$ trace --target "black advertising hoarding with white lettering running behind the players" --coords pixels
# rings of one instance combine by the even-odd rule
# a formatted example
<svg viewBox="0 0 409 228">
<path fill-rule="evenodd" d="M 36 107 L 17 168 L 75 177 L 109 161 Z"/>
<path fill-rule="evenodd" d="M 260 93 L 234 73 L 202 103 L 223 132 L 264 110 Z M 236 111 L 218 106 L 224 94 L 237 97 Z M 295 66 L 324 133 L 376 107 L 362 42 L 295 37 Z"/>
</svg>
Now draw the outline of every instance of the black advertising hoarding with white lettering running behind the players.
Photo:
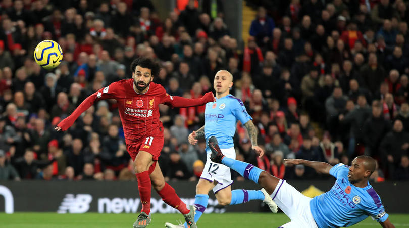
<svg viewBox="0 0 409 228">
<path fill-rule="evenodd" d="M 297 190 L 306 194 L 328 191 L 333 181 L 289 181 Z M 193 204 L 195 185 L 192 182 L 171 182 L 176 193 L 187 204 Z M 315 188 L 312 188 L 314 186 Z M 405 196 L 409 183 L 385 182 L 372 184 L 381 196 L 388 213 L 409 213 L 409 198 Z M 309 188 L 310 187 L 310 188 Z M 250 181 L 236 182 L 232 189 L 260 189 Z M 213 193 L 210 194 L 206 213 L 262 211 L 260 201 L 228 206 L 220 209 Z M 57 213 L 138 213 L 140 201 L 137 183 L 106 181 L 21 181 L 0 182 L 0 212 L 57 212 Z M 153 213 L 177 213 L 152 191 Z"/>
</svg>

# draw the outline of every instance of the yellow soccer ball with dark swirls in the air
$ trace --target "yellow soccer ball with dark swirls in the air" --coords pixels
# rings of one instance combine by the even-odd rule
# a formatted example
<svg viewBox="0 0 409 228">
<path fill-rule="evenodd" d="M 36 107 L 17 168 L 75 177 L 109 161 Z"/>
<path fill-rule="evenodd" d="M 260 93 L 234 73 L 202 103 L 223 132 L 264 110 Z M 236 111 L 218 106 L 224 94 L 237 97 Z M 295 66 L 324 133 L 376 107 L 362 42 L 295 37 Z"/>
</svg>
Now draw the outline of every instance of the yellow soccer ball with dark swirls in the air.
<svg viewBox="0 0 409 228">
<path fill-rule="evenodd" d="M 55 68 L 63 60 L 63 50 L 56 41 L 41 41 L 35 47 L 34 60 L 44 69 Z"/>
</svg>

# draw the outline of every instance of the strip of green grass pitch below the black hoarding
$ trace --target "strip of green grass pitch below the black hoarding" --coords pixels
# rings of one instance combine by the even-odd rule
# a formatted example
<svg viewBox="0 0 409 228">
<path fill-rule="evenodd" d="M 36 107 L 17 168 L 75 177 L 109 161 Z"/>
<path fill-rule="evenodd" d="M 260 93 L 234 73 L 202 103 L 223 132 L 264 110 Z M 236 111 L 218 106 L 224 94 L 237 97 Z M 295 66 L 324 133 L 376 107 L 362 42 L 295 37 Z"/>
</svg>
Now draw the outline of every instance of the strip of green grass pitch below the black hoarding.
<svg viewBox="0 0 409 228">
<path fill-rule="evenodd" d="M 104 228 L 127 227 L 131 228 L 136 214 L 57 214 L 57 213 L 0 213 L 0 227 L 2 228 Z M 165 222 L 177 223 L 183 219 L 180 214 L 154 214 L 152 222 L 147 228 L 164 227 Z M 389 220 L 395 227 L 409 227 L 409 214 L 391 214 Z M 278 227 L 289 222 L 283 214 L 270 213 L 225 213 L 205 214 L 198 222 L 198 227 Z M 371 218 L 354 225 L 353 227 L 381 227 Z"/>
</svg>

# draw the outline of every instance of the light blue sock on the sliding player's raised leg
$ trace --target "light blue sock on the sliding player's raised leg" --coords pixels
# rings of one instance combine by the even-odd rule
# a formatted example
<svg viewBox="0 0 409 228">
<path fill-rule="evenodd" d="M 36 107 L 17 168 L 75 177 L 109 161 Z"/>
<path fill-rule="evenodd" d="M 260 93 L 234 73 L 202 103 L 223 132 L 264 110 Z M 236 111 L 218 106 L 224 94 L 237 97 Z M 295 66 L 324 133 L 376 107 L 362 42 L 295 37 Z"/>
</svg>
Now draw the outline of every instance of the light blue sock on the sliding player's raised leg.
<svg viewBox="0 0 409 228">
<path fill-rule="evenodd" d="M 245 179 L 252 180 L 256 184 L 259 184 L 259 176 L 260 173 L 263 172 L 262 169 L 259 169 L 252 164 L 237 161 L 236 159 L 231 159 L 226 156 L 223 157 L 222 164 L 240 173 Z"/>
</svg>

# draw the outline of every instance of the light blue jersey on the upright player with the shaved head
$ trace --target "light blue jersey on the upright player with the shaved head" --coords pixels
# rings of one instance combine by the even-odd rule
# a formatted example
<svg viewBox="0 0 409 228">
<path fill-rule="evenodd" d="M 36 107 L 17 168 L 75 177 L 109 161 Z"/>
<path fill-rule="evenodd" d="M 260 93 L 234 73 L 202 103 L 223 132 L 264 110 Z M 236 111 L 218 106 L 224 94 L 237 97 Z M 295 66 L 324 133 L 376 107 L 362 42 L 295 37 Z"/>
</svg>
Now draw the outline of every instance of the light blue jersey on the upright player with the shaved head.
<svg viewBox="0 0 409 228">
<path fill-rule="evenodd" d="M 205 138 L 206 145 L 211 136 L 215 136 L 221 149 L 233 147 L 233 136 L 236 132 L 237 121 L 241 124 L 252 120 L 243 102 L 232 95 L 216 99 L 216 102 L 206 104 L 205 110 Z M 209 148 L 206 149 L 209 151 Z"/>
</svg>

